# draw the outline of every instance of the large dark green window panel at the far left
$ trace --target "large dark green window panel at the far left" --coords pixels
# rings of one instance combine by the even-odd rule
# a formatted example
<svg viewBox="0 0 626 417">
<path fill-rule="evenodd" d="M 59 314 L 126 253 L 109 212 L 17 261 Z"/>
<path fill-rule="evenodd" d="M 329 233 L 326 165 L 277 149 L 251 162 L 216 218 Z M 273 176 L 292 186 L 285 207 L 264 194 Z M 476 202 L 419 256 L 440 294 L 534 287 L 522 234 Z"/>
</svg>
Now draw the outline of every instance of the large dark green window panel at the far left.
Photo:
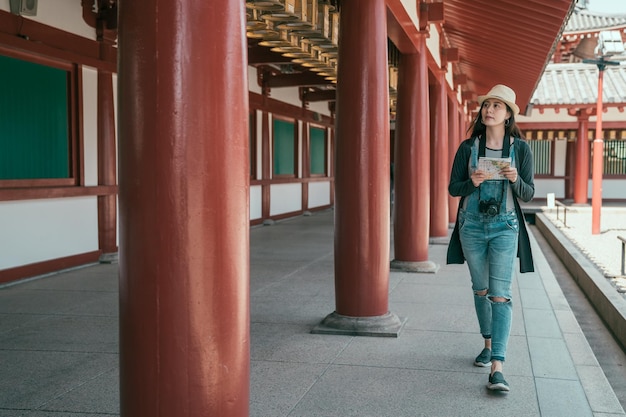
<svg viewBox="0 0 626 417">
<path fill-rule="evenodd" d="M 0 56 L 0 180 L 68 178 L 68 73 Z"/>
</svg>

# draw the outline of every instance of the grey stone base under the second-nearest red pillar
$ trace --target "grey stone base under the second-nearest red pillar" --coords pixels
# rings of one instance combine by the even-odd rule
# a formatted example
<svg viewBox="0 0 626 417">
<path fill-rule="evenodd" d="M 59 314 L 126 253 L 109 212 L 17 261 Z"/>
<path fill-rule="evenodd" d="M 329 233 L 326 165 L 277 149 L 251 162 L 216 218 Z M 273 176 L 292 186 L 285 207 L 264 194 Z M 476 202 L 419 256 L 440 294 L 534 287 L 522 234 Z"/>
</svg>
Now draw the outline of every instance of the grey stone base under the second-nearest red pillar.
<svg viewBox="0 0 626 417">
<path fill-rule="evenodd" d="M 319 325 L 315 326 L 311 333 L 398 337 L 405 323 L 406 318 L 400 318 L 391 312 L 373 317 L 350 317 L 333 312 L 326 316 Z"/>
</svg>

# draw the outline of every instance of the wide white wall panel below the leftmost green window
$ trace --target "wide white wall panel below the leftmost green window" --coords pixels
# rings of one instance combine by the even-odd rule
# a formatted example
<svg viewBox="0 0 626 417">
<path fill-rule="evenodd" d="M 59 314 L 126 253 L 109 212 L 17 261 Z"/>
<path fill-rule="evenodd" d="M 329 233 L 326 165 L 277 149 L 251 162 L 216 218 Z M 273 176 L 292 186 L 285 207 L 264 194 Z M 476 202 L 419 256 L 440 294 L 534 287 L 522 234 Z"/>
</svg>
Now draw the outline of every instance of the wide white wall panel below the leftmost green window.
<svg viewBox="0 0 626 417">
<path fill-rule="evenodd" d="M 0 203 L 0 270 L 98 250 L 96 197 Z"/>
</svg>

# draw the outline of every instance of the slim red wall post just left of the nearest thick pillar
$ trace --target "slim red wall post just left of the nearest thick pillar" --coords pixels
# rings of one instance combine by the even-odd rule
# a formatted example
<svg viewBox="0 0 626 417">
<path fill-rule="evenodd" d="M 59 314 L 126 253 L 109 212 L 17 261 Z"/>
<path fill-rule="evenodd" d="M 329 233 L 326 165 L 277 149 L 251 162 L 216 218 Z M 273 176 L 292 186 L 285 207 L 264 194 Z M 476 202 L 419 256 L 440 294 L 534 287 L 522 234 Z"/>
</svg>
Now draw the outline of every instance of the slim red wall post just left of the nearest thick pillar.
<svg viewBox="0 0 626 417">
<path fill-rule="evenodd" d="M 98 71 L 98 184 L 117 184 L 113 75 Z M 98 196 L 98 247 L 102 262 L 117 258 L 117 195 Z"/>
</svg>

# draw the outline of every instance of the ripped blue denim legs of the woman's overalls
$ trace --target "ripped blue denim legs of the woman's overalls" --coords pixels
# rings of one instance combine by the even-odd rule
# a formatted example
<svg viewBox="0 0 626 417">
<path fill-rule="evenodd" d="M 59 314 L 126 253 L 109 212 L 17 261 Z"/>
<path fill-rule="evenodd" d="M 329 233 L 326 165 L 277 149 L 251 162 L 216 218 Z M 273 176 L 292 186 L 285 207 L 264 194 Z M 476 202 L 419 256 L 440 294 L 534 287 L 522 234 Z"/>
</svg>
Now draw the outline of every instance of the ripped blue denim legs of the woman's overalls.
<svg viewBox="0 0 626 417">
<path fill-rule="evenodd" d="M 491 338 L 491 359 L 504 361 L 511 332 L 511 284 L 519 224 L 515 212 L 493 217 L 460 211 L 459 233 L 472 277 L 474 306 L 480 332 Z M 487 291 L 486 295 L 477 293 Z M 507 299 L 493 301 L 494 297 Z"/>
</svg>

